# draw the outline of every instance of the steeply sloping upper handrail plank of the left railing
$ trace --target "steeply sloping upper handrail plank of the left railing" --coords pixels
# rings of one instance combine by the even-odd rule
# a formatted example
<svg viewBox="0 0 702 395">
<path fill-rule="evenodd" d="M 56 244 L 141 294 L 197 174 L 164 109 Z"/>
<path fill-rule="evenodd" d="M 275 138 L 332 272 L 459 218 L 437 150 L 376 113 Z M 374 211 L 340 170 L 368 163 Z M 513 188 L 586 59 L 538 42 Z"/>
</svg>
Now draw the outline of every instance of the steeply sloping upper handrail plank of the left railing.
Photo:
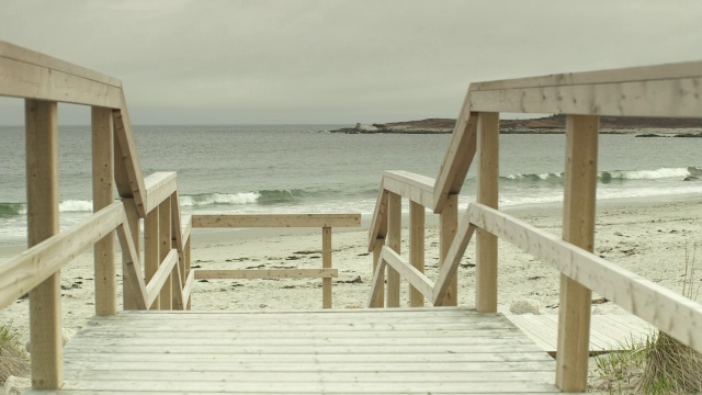
<svg viewBox="0 0 702 395">
<path fill-rule="evenodd" d="M 118 110 L 112 112 L 114 121 L 114 134 L 117 136 L 120 149 L 115 146 L 115 168 L 121 168 L 121 174 L 126 174 L 126 180 L 117 179 L 117 182 L 128 181 L 128 185 L 117 184 L 121 198 L 133 198 L 139 217 L 146 217 L 146 187 L 141 165 L 136 153 L 136 142 L 132 129 L 132 120 L 127 110 L 127 102 L 122 92 L 122 101 Z M 129 191 L 129 192 L 127 192 Z"/>
</svg>

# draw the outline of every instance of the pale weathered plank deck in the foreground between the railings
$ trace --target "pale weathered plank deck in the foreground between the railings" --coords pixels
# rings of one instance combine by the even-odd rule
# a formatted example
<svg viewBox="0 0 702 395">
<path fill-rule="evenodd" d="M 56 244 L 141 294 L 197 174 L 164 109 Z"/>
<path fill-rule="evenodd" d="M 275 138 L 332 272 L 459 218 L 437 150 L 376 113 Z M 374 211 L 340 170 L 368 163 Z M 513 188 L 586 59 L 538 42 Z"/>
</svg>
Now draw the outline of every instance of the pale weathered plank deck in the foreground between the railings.
<svg viewBox="0 0 702 395">
<path fill-rule="evenodd" d="M 502 315 L 442 307 L 124 312 L 65 348 L 60 392 L 553 393 L 555 361 Z"/>
</svg>

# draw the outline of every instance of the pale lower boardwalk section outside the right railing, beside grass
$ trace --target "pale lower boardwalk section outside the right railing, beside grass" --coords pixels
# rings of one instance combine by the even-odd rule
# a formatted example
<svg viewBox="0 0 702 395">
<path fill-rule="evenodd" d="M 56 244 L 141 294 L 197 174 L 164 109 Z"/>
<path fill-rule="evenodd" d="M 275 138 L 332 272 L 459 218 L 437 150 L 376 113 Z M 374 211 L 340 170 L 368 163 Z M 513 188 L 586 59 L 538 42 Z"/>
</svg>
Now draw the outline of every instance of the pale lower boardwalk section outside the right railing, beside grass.
<svg viewBox="0 0 702 395">
<path fill-rule="evenodd" d="M 558 316 L 510 315 L 514 323 L 539 347 L 555 356 L 558 342 Z M 653 335 L 655 328 L 633 315 L 592 315 L 590 317 L 590 356 L 620 350 L 632 343 L 643 341 Z"/>
</svg>

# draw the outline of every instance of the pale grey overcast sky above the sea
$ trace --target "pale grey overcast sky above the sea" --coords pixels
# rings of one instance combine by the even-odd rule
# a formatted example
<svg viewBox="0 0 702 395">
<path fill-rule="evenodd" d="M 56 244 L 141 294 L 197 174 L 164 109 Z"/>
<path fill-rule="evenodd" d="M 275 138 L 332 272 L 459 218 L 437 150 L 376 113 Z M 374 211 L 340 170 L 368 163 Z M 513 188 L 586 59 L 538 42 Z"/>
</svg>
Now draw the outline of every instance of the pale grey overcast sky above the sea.
<svg viewBox="0 0 702 395">
<path fill-rule="evenodd" d="M 135 124 L 455 117 L 472 81 L 699 60 L 700 21 L 699 0 L 0 2 L 0 40 L 121 79 Z"/>
</svg>

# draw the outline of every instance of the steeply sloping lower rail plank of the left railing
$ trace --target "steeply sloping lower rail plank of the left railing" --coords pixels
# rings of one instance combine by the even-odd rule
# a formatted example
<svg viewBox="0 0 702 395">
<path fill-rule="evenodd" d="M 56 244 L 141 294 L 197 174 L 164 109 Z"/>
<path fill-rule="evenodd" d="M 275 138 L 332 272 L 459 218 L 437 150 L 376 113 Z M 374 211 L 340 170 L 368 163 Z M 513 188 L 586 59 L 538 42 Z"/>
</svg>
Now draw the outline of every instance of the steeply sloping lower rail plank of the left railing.
<svg viewBox="0 0 702 395">
<path fill-rule="evenodd" d="M 122 261 L 124 264 L 123 282 L 128 284 L 128 289 L 132 290 L 129 296 L 131 303 L 134 305 L 134 309 L 146 309 L 146 302 L 148 294 L 146 292 L 146 285 L 144 284 L 144 278 L 141 276 L 141 266 L 139 263 L 139 253 L 134 245 L 134 236 L 128 224 L 128 217 L 126 212 L 124 213 L 124 219 L 121 226 L 117 226 L 117 237 L 120 238 L 120 245 L 122 247 Z M 127 289 L 126 285 L 125 290 Z M 126 308 L 125 308 L 126 309 Z"/>
</svg>

